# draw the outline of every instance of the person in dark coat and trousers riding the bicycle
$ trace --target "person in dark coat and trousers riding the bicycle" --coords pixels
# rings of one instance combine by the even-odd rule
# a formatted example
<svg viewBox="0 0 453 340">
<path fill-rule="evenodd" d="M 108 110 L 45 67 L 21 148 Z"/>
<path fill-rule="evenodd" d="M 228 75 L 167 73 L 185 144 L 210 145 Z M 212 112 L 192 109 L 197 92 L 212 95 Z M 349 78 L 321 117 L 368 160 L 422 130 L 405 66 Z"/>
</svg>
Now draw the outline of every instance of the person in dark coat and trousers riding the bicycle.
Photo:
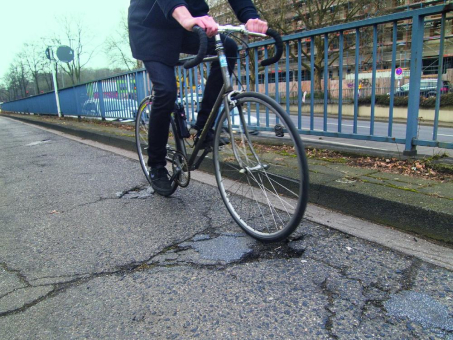
<svg viewBox="0 0 453 340">
<path fill-rule="evenodd" d="M 229 0 L 238 20 L 249 31 L 265 33 L 267 23 L 259 19 L 251 0 Z M 179 53 L 197 54 L 198 36 L 192 32 L 195 25 L 206 31 L 208 54 L 214 54 L 217 23 L 208 15 L 204 0 L 131 0 L 129 6 L 129 41 L 134 58 L 142 60 L 153 84 L 154 100 L 151 108 L 148 135 L 148 166 L 153 189 L 160 195 L 171 193 L 170 178 L 165 168 L 166 143 L 170 113 L 174 109 L 177 87 L 174 67 Z M 222 36 L 228 69 L 236 63 L 237 45 Z M 201 133 L 214 102 L 223 85 L 219 62 L 213 62 L 206 82 L 203 102 L 195 128 Z M 211 130 L 206 138 L 213 140 Z"/>
</svg>

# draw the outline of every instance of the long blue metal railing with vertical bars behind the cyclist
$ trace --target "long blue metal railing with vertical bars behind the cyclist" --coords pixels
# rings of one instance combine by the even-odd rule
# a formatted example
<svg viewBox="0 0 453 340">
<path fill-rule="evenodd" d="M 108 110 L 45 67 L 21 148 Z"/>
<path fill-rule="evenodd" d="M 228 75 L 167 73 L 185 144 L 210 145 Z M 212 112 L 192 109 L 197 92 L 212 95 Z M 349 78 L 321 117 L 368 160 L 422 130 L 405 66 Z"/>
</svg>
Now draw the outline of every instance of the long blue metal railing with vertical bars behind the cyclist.
<svg viewBox="0 0 453 340">
<path fill-rule="evenodd" d="M 446 48 L 445 23 L 447 14 L 452 10 L 451 5 L 431 6 L 291 34 L 283 37 L 284 58 L 274 66 L 262 69 L 258 66 L 258 56 L 266 58 L 268 49 L 272 48 L 272 42 L 251 43 L 249 48 L 252 52 L 249 52 L 245 59 L 238 59 L 235 86 L 274 97 L 291 114 L 301 134 L 400 143 L 405 145 L 405 153 L 409 155 L 416 153 L 417 145 L 453 149 L 452 138 L 445 137 L 445 133 L 439 134 L 440 94 L 445 91 L 442 89 L 443 55 Z M 440 15 L 440 19 L 436 20 L 441 21 L 441 33 L 437 39 L 438 74 L 433 76 L 437 78 L 436 100 L 431 110 L 433 118 L 429 120 L 430 133 L 422 135 L 419 117 L 422 57 L 424 46 L 432 42 L 432 39 L 424 37 L 424 23 L 425 18 L 433 15 Z M 394 107 L 395 93 L 398 91 L 395 70 L 402 66 L 401 50 L 400 63 L 397 63 L 397 52 L 401 47 L 397 41 L 399 25 L 411 27 L 411 39 L 410 51 L 404 51 L 405 59 L 410 59 L 410 71 L 405 70 L 406 73 L 410 72 L 408 104 L 404 109 L 404 117 L 398 113 L 397 118 L 396 112 L 401 109 Z M 382 33 L 379 33 L 384 31 L 384 28 L 392 31 L 388 44 L 383 43 Z M 350 45 L 351 41 L 354 44 Z M 322 47 L 316 48 L 315 42 Z M 408 43 L 409 40 L 405 45 Z M 378 75 L 382 73 L 378 70 L 378 59 L 383 55 L 381 51 L 384 45 L 391 49 L 387 51 L 391 60 L 387 63 L 387 83 L 383 86 L 382 79 L 378 79 Z M 295 52 L 294 56 L 291 56 L 292 52 Z M 360 72 L 360 67 L 367 64 L 367 58 L 370 59 L 367 76 L 371 81 L 361 88 L 364 72 Z M 316 73 L 315 69 L 319 67 L 320 61 L 328 67 L 321 65 L 321 70 Z M 384 60 L 381 58 L 380 62 L 382 66 Z M 352 84 L 344 79 L 346 71 L 354 72 L 353 77 L 349 77 Z M 205 75 L 209 73 L 209 64 L 202 64 L 189 71 L 178 67 L 175 72 L 179 81 L 179 100 L 185 102 L 188 117 L 193 120 L 196 105 L 201 101 L 204 90 Z M 335 76 L 334 72 L 337 72 Z M 303 80 L 303 75 L 307 76 L 308 80 Z M 398 85 L 399 82 L 400 80 Z M 59 91 L 61 111 L 65 115 L 133 119 L 137 103 L 151 93 L 151 88 L 145 70 L 65 88 Z M 377 96 L 387 93 L 389 106 L 378 107 Z M 368 108 L 359 105 L 364 95 L 371 101 Z M 6 102 L 2 109 L 57 114 L 53 93 Z M 258 130 L 269 130 L 270 119 L 267 112 L 260 112 L 258 108 L 250 114 L 257 118 Z M 377 115 L 381 120 L 384 118 L 385 122 L 378 121 Z M 427 124 L 425 117 L 424 120 L 424 124 Z M 439 137 L 440 135 L 442 136 Z"/>
</svg>

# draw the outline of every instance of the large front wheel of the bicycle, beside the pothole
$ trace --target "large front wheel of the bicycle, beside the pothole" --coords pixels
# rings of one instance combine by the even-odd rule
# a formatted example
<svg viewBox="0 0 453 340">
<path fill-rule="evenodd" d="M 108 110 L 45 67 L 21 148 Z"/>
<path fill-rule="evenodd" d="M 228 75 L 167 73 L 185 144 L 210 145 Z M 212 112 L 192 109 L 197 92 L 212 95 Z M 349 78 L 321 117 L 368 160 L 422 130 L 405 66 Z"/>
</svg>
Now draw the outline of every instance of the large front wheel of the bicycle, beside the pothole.
<svg viewBox="0 0 453 340">
<path fill-rule="evenodd" d="M 290 116 L 273 99 L 254 92 L 237 95 L 216 127 L 214 166 L 222 199 L 233 219 L 252 237 L 274 242 L 299 225 L 308 201 L 308 166 Z M 250 116 L 269 113 L 260 136 L 249 133 Z M 281 130 L 282 128 L 282 130 Z M 234 140 L 231 141 L 230 129 Z M 284 133 L 283 137 L 281 132 Z M 225 139 L 228 144 L 222 145 Z"/>
</svg>

